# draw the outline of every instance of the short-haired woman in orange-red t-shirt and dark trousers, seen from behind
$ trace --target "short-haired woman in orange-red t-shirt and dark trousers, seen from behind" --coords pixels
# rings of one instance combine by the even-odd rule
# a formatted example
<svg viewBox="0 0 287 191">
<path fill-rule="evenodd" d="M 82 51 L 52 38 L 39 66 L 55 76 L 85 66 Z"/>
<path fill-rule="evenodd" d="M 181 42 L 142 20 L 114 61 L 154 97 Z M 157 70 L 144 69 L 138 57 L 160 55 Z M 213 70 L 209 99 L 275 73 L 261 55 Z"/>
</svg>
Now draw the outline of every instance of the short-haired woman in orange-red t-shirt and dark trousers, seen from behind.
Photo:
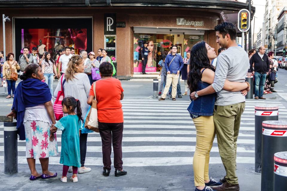
<svg viewBox="0 0 287 191">
<path fill-rule="evenodd" d="M 123 99 L 123 88 L 118 79 L 112 78 L 113 66 L 103 62 L 100 67 L 101 79 L 96 83 L 97 111 L 99 130 L 102 138 L 103 175 L 109 176 L 111 171 L 112 144 L 114 148 L 115 176 L 126 175 L 122 161 L 123 110 L 120 100 Z M 94 100 L 94 85 L 92 84 L 87 103 Z M 109 92 L 107 94 L 106 92 Z"/>
</svg>

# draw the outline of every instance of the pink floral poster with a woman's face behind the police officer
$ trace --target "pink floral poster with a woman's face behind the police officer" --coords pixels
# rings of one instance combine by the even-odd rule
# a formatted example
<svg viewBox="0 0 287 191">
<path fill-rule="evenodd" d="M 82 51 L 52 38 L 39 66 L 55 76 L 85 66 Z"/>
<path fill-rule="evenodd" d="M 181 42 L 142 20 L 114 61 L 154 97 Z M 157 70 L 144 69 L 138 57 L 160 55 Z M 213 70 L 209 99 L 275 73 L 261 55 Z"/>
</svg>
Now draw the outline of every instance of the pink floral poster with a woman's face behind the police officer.
<svg viewBox="0 0 287 191">
<path fill-rule="evenodd" d="M 156 72 L 156 36 L 155 34 L 134 34 L 134 73 L 142 73 L 142 58 L 141 48 L 144 47 L 144 41 L 147 41 L 149 49 L 148 61 L 146 64 L 146 73 Z"/>
</svg>

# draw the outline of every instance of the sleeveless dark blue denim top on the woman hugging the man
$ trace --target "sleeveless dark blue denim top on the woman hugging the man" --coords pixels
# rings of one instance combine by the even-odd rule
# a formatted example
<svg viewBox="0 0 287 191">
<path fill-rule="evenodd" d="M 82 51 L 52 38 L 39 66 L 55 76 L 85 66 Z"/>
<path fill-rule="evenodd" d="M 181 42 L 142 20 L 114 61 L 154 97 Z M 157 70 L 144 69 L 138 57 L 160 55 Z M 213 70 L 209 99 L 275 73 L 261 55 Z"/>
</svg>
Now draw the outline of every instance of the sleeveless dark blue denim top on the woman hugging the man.
<svg viewBox="0 0 287 191">
<path fill-rule="evenodd" d="M 209 85 L 210 84 L 206 82 L 199 81 L 197 83 L 196 91 L 202 90 L 208 87 Z M 190 114 L 193 115 L 212 116 L 215 100 L 216 100 L 216 93 L 205 96 L 199 96 L 195 101 L 191 101 L 187 110 L 189 111 Z"/>
</svg>

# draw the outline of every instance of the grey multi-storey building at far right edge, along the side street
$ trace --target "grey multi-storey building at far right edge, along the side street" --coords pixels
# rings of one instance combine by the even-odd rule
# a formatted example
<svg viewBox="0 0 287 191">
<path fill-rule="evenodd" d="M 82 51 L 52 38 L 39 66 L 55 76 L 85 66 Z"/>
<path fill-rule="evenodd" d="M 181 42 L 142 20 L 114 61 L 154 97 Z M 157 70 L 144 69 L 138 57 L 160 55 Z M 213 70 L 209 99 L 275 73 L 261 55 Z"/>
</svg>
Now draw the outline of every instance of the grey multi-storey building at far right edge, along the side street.
<svg viewBox="0 0 287 191">
<path fill-rule="evenodd" d="M 278 16 L 277 49 L 276 55 L 283 56 L 283 48 L 287 44 L 287 7 L 284 7 Z"/>
</svg>

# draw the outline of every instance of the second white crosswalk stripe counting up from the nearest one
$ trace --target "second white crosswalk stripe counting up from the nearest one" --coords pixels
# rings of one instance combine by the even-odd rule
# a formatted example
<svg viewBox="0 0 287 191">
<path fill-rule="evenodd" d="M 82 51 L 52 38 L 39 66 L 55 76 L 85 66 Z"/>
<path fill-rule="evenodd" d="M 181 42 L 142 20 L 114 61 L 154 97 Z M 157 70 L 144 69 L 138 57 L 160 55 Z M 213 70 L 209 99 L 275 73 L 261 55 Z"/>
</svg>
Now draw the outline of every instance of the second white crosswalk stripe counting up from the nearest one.
<svg viewBox="0 0 287 191">
<path fill-rule="evenodd" d="M 131 152 L 195 152 L 196 146 L 131 146 L 122 147 L 123 153 Z M 61 147 L 58 146 L 59 152 Z M 4 146 L 0 146 L 0 151 L 4 151 Z M 26 151 L 26 146 L 18 146 L 18 151 Z M 101 146 L 87 146 L 87 152 L 102 152 Z M 112 147 L 113 152 L 113 147 Z M 212 147 L 210 152 L 219 152 L 218 147 Z M 244 147 L 237 147 L 237 153 L 254 153 L 254 150 L 245 150 Z"/>
</svg>

